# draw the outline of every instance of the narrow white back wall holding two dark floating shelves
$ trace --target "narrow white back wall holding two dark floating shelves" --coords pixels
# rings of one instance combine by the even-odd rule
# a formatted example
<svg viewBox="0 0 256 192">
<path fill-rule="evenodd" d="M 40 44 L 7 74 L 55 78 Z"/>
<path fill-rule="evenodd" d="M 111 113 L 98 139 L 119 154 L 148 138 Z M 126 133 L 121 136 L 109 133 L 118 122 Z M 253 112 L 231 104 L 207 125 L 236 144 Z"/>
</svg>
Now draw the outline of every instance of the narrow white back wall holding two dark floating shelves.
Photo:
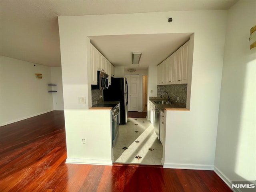
<svg viewBox="0 0 256 192">
<path fill-rule="evenodd" d="M 52 86 L 52 89 L 57 91 L 52 93 L 53 108 L 64 110 L 61 67 L 51 67 L 51 79 L 52 84 L 57 84 L 57 86 Z"/>
</svg>

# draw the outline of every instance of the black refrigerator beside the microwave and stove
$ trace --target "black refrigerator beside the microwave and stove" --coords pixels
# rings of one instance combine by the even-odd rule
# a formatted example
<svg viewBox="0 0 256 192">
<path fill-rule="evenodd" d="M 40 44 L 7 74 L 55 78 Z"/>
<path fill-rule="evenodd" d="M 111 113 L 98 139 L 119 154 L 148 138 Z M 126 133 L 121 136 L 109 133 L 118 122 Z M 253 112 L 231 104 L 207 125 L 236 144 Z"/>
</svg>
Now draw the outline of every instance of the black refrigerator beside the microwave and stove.
<svg viewBox="0 0 256 192">
<path fill-rule="evenodd" d="M 120 101 L 120 124 L 127 123 L 128 84 L 125 77 L 111 77 L 111 85 L 103 90 L 104 101 Z"/>
</svg>

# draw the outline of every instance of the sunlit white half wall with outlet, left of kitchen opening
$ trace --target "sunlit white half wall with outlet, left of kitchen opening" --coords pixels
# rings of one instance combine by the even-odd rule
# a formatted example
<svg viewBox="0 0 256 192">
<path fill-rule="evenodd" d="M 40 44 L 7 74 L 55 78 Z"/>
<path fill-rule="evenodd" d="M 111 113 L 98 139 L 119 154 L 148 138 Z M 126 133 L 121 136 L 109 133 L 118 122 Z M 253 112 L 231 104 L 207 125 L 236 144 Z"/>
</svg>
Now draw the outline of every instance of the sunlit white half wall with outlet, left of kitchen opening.
<svg viewBox="0 0 256 192">
<path fill-rule="evenodd" d="M 65 109 L 64 113 L 67 122 L 66 162 L 112 165 L 111 110 Z M 82 143 L 83 138 L 86 140 L 85 144 Z"/>
</svg>

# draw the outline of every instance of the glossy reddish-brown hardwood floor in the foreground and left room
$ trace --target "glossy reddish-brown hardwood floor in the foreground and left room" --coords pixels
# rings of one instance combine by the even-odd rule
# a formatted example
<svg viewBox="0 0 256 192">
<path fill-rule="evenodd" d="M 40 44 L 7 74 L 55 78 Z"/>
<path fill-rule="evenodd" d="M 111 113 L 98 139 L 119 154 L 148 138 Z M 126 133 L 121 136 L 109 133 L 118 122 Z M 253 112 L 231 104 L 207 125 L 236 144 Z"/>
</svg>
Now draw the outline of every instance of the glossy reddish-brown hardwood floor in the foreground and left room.
<svg viewBox="0 0 256 192">
<path fill-rule="evenodd" d="M 0 128 L 1 192 L 231 192 L 213 171 L 65 164 L 64 112 Z"/>
</svg>

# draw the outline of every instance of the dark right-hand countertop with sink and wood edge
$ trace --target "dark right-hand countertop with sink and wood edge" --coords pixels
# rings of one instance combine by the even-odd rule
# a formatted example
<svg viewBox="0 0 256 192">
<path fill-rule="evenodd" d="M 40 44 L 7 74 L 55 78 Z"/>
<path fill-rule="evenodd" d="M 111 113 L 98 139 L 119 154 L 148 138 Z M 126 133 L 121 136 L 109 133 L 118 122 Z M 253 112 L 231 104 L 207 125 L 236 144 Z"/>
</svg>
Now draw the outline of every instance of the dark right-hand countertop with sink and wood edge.
<svg viewBox="0 0 256 192">
<path fill-rule="evenodd" d="M 174 100 L 170 100 L 171 104 L 156 104 L 154 101 L 163 101 L 165 99 L 160 98 L 160 97 L 150 97 L 149 100 L 158 108 L 160 109 L 162 112 L 164 112 L 164 110 L 189 110 L 186 109 L 186 105 L 182 104 L 182 103 L 177 103 Z M 167 101 L 167 100 L 166 100 Z"/>
</svg>

